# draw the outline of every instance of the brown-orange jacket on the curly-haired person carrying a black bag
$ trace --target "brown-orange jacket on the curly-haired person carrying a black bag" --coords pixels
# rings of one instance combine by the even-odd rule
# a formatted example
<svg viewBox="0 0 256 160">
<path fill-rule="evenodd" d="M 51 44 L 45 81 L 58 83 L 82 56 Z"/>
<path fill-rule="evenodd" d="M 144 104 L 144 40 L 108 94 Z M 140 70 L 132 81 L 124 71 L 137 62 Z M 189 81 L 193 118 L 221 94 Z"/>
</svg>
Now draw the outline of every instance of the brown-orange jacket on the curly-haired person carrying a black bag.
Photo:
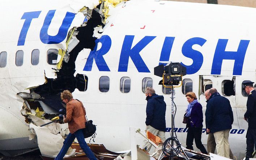
<svg viewBox="0 0 256 160">
<path fill-rule="evenodd" d="M 86 112 L 84 105 L 76 99 L 71 99 L 67 103 L 67 114 L 64 118 L 64 123 L 68 123 L 68 128 L 70 133 L 76 132 L 78 129 L 85 128 L 86 122 Z"/>
</svg>

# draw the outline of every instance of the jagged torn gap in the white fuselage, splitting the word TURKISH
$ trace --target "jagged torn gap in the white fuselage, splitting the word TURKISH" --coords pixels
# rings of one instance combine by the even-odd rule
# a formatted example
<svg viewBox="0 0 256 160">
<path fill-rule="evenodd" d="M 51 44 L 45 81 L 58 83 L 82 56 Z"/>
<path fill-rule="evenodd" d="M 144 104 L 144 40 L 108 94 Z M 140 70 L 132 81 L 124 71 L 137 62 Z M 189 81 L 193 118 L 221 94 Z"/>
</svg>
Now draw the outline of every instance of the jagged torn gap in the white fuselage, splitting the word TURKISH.
<svg viewBox="0 0 256 160">
<path fill-rule="evenodd" d="M 107 13 L 109 12 L 109 6 L 114 8 L 121 1 L 123 0 L 115 0 L 113 3 L 108 0 L 104 1 L 104 4 L 101 5 L 102 8 L 100 10 L 98 9 L 98 13 L 103 13 L 102 9 L 104 8 L 105 17 L 103 18 L 108 17 L 109 15 L 107 16 Z M 23 102 L 20 112 L 24 117 L 24 123 L 29 126 L 29 131 L 31 132 L 31 134 L 27 135 L 27 137 L 29 137 L 29 140 L 37 138 L 38 147 L 43 156 L 56 156 L 63 145 L 65 136 L 69 134 L 68 124 L 52 123 L 43 127 L 40 127 L 40 125 L 46 124 L 47 122 L 52 122 L 50 120 L 51 117 L 56 116 L 57 113 L 55 108 L 51 110 L 54 104 L 50 105 L 51 101 L 48 101 L 49 97 L 52 99 L 56 98 L 57 101 L 60 101 L 59 93 L 61 90 L 63 91 L 68 89 L 74 91 L 75 88 L 68 88 L 70 86 L 65 84 L 67 82 L 67 79 L 65 78 L 68 78 L 70 81 L 72 81 L 72 78 L 75 78 L 73 76 L 77 73 L 73 72 L 73 70 L 79 70 L 79 67 L 74 67 L 77 65 L 75 63 L 76 58 L 86 61 L 91 49 L 93 49 L 95 46 L 95 40 L 97 38 L 101 38 L 101 33 L 103 32 L 104 27 L 104 23 L 102 23 L 102 21 L 104 20 L 101 18 L 99 21 L 97 16 L 99 17 L 100 15 L 96 15 L 96 13 L 93 12 L 93 9 L 96 8 L 97 5 L 99 5 L 99 1 L 87 0 L 61 8 L 65 11 L 67 10 L 75 13 L 76 16 L 72 21 L 66 39 L 61 43 L 52 44 L 52 46 L 54 46 L 53 48 L 59 48 L 56 60 L 57 64 L 52 67 L 53 72 L 50 73 L 49 68 L 42 68 L 42 74 L 40 74 L 40 76 L 38 76 L 36 79 L 29 79 L 27 82 L 24 81 L 24 83 L 20 85 L 20 88 L 13 88 L 16 93 L 18 92 L 17 95 L 18 98 L 20 98 L 20 102 Z M 81 6 L 85 7 L 81 8 Z M 95 14 L 94 17 L 93 13 Z M 82 27 L 87 27 L 88 22 L 90 22 L 89 20 L 92 18 L 94 18 L 94 20 L 92 20 L 94 23 L 91 23 L 89 28 L 84 30 Z M 96 27 L 93 26 L 95 23 L 97 23 Z M 88 41 L 85 36 L 90 36 L 90 40 Z M 86 39 L 86 41 L 81 42 L 81 38 Z M 70 57 L 71 54 L 75 55 L 74 58 Z M 80 66 L 82 67 L 83 65 Z M 65 78 L 63 79 L 63 77 Z M 63 83 L 63 85 L 61 85 L 61 83 Z M 64 88 L 61 86 L 64 86 Z M 27 89 L 27 91 L 24 92 L 24 89 Z M 50 92 L 47 90 L 50 90 Z M 54 97 L 52 97 L 52 95 L 54 95 Z M 67 154 L 71 152 L 72 149 L 69 148 Z"/>
</svg>

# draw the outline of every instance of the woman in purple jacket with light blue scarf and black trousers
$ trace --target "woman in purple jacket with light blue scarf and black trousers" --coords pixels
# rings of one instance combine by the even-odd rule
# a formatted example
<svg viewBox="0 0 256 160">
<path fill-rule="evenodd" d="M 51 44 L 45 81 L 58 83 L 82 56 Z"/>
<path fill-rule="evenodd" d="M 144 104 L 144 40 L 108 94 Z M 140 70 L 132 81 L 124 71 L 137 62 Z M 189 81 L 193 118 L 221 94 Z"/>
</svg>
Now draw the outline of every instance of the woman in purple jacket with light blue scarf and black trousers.
<svg viewBox="0 0 256 160">
<path fill-rule="evenodd" d="M 188 118 L 187 126 L 187 140 L 186 145 L 187 149 L 193 150 L 193 141 L 195 139 L 196 147 L 204 154 L 207 154 L 204 145 L 201 142 L 202 135 L 202 122 L 203 122 L 203 114 L 202 114 L 202 105 L 197 101 L 196 94 L 194 92 L 188 92 L 186 94 L 186 98 L 188 101 L 188 107 L 185 113 Z"/>
</svg>

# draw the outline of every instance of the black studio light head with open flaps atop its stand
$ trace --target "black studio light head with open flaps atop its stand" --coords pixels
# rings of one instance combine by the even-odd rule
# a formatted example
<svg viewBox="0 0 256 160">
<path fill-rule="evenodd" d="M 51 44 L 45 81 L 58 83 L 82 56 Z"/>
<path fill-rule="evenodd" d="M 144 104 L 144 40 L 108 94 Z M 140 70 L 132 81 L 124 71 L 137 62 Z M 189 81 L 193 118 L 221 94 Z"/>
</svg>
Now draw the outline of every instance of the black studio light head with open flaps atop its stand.
<svg viewBox="0 0 256 160">
<path fill-rule="evenodd" d="M 187 74 L 187 69 L 179 62 L 171 62 L 169 65 L 159 65 L 154 68 L 154 75 L 163 77 L 159 85 L 179 85 L 182 76 Z"/>
</svg>

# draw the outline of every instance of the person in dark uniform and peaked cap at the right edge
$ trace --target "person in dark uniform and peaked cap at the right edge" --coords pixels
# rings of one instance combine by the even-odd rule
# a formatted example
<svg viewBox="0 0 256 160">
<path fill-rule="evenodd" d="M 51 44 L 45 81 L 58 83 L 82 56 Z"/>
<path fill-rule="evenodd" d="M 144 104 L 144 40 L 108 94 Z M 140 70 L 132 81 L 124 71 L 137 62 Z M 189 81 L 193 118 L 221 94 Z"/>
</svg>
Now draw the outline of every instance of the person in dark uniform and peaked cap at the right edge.
<svg viewBox="0 0 256 160">
<path fill-rule="evenodd" d="M 246 160 L 252 157 L 254 144 L 256 142 L 256 91 L 251 81 L 244 81 L 244 90 L 249 95 L 246 103 L 247 111 L 244 113 L 244 120 L 248 122 L 246 134 Z"/>
</svg>

